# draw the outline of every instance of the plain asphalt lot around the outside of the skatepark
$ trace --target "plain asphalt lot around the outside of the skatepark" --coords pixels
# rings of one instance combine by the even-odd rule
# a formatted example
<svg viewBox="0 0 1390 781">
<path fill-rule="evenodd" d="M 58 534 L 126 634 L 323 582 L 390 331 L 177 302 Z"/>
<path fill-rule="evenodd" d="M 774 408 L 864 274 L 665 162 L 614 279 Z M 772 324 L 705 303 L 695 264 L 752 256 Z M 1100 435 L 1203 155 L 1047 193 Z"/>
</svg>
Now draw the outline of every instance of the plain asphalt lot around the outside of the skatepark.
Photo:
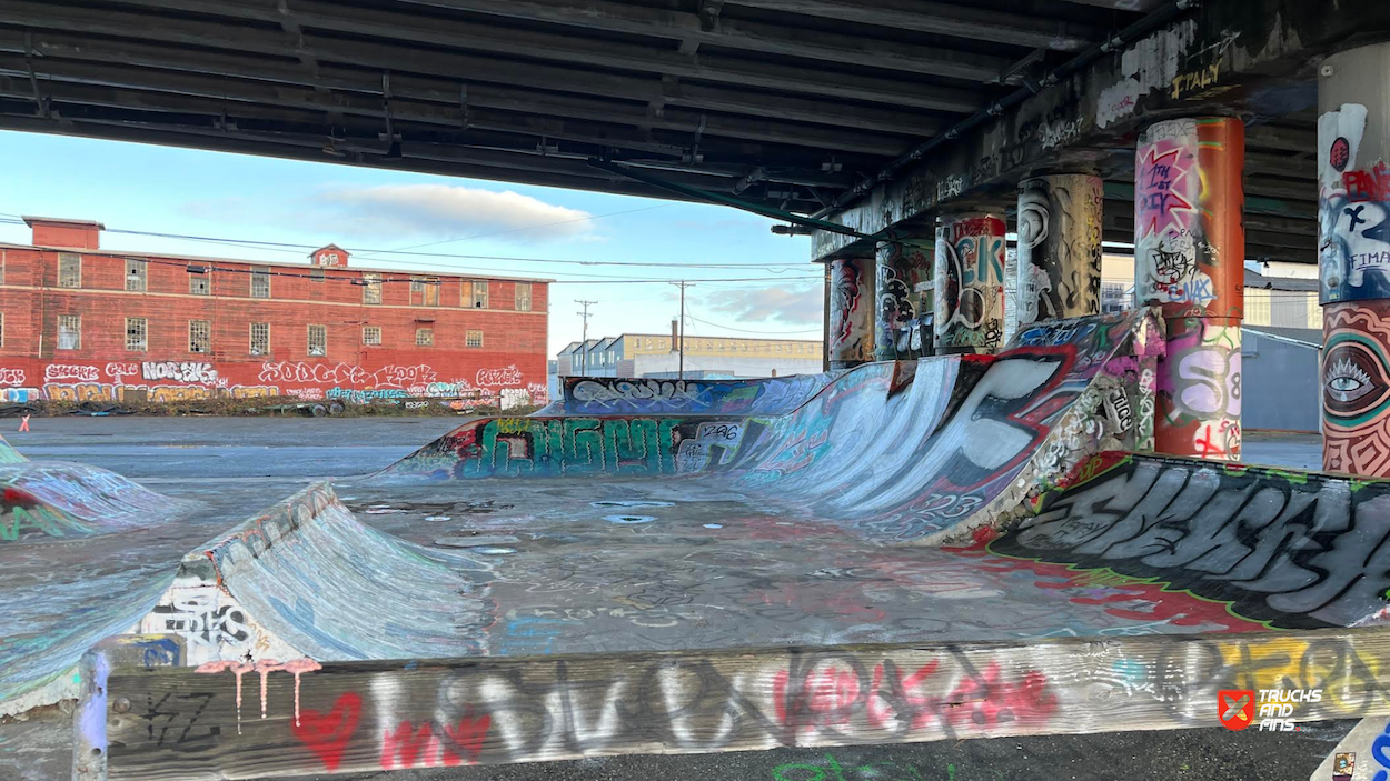
<svg viewBox="0 0 1390 781">
<path fill-rule="evenodd" d="M 88 463 L 156 491 L 213 499 L 208 524 L 231 527 L 313 477 L 361 475 L 449 431 L 456 418 L 40 418 L 4 432 L 35 459 Z M 1247 461 L 1309 468 L 1316 436 L 1247 435 Z M 364 517 L 370 521 L 391 516 Z M 382 523 L 389 527 L 391 524 Z M 404 529 L 393 529 L 404 531 Z M 197 531 L 195 534 L 202 534 Z M 428 535 L 435 531 L 430 529 Z M 418 536 L 418 532 L 407 536 Z M 174 560 L 170 561 L 174 566 Z M 749 638 L 756 642 L 759 638 Z M 703 756 L 630 756 L 564 763 L 449 768 L 349 778 L 539 781 L 720 778 L 769 781 L 974 781 L 1012 778 L 1308 778 L 1352 723 L 1302 732 L 1190 730 L 997 738 L 917 745 L 781 749 Z M 63 778 L 70 721 L 58 709 L 0 725 L 0 781 Z"/>
</svg>

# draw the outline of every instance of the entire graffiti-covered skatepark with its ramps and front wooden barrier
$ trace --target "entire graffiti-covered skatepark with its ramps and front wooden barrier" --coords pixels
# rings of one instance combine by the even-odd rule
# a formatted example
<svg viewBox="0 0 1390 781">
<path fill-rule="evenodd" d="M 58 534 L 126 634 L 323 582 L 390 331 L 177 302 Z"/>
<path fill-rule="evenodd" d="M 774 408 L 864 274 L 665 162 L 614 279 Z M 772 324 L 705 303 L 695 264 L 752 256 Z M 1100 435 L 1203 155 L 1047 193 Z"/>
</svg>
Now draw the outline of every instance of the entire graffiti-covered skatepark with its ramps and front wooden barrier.
<svg viewBox="0 0 1390 781">
<path fill-rule="evenodd" d="M 1390 484 L 1148 454 L 1162 349 L 1130 311 L 994 357 L 577 379 L 220 532 L 0 464 L 0 554 L 89 546 L 61 595 L 108 595 L 35 575 L 0 713 L 75 698 L 74 777 L 139 780 L 1212 727 L 1232 689 L 1390 713 Z"/>
</svg>

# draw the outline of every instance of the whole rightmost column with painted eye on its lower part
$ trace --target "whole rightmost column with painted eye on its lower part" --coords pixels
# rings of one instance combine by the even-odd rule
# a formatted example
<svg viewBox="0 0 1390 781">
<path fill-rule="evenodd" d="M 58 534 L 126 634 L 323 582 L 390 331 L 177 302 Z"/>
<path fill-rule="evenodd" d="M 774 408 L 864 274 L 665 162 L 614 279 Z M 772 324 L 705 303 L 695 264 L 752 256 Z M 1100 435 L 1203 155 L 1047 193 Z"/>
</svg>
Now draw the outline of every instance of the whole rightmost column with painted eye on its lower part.
<svg viewBox="0 0 1390 781">
<path fill-rule="evenodd" d="M 1318 79 L 1322 464 L 1373 477 L 1390 477 L 1387 68 L 1377 43 L 1327 57 Z"/>
</svg>

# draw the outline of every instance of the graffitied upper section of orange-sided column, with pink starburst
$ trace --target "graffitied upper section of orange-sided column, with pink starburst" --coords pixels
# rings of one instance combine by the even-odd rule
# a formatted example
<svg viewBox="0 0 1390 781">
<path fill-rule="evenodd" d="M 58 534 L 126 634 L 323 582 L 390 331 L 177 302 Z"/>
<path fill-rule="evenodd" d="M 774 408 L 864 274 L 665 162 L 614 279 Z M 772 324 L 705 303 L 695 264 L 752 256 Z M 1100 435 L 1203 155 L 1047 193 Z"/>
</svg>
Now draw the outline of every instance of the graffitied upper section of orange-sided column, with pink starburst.
<svg viewBox="0 0 1390 781">
<path fill-rule="evenodd" d="M 1140 135 L 1134 171 L 1134 279 L 1163 317 L 1241 317 L 1240 121 L 1170 120 Z M 1234 168 L 1238 171 L 1238 167 Z M 1233 215 L 1233 217 L 1227 217 Z M 1222 256 L 1230 254 L 1229 258 Z"/>
</svg>

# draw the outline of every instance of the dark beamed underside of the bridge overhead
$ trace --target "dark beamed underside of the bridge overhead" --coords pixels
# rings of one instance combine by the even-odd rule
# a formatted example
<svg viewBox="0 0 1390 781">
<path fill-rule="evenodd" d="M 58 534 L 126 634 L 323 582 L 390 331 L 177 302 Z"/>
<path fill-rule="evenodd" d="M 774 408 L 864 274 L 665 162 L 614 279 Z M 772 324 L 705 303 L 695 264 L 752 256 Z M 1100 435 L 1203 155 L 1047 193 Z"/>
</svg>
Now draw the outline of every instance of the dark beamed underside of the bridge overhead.
<svg viewBox="0 0 1390 781">
<path fill-rule="evenodd" d="M 0 126 L 696 197 L 655 176 L 863 233 L 1081 165 L 1129 242 L 1136 131 L 1205 107 L 1251 124 L 1248 256 L 1309 261 L 1309 63 L 1387 14 L 1316 6 L 15 0 Z"/>
</svg>

